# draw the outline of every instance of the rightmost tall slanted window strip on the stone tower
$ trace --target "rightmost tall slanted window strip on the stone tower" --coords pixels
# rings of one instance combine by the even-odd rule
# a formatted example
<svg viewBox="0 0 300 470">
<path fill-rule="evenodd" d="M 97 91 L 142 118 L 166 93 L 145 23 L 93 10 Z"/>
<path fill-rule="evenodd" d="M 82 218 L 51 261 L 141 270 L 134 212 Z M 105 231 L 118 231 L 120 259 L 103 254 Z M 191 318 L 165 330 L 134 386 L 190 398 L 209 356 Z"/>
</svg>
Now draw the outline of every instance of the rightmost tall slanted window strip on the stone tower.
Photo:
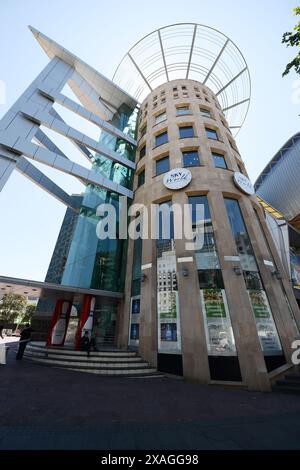
<svg viewBox="0 0 300 470">
<path fill-rule="evenodd" d="M 282 355 L 280 339 L 239 203 L 235 199 L 225 198 L 225 206 L 239 253 L 261 348 L 265 356 Z"/>
</svg>

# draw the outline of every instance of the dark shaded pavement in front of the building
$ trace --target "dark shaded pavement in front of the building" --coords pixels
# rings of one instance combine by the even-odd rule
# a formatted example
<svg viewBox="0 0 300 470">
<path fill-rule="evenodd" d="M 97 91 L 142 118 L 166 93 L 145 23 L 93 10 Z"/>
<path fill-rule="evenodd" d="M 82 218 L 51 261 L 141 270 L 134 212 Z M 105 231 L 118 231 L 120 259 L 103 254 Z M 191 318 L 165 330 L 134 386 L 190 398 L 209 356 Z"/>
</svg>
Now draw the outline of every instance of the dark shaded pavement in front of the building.
<svg viewBox="0 0 300 470">
<path fill-rule="evenodd" d="M 0 449 L 300 449 L 300 396 L 0 366 Z"/>
</svg>

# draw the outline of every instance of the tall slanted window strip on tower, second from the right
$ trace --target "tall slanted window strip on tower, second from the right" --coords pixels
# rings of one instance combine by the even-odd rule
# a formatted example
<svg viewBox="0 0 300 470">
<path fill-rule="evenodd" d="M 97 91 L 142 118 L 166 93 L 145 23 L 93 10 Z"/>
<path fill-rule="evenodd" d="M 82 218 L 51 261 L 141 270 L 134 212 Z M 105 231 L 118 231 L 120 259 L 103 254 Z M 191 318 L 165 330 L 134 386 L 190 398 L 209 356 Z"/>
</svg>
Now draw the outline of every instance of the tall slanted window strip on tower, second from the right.
<svg viewBox="0 0 300 470">
<path fill-rule="evenodd" d="M 210 356 L 236 356 L 235 340 L 224 290 L 206 196 L 189 197 L 200 300 Z"/>
</svg>

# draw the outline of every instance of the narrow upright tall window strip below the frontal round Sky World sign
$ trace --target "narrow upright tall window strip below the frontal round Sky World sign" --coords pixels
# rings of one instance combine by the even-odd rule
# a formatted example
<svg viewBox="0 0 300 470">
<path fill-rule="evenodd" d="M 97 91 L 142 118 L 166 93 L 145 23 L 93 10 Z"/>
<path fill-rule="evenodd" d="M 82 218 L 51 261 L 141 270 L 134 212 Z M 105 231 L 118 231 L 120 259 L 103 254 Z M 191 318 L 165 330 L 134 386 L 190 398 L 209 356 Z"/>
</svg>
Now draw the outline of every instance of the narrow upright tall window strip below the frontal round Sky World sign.
<svg viewBox="0 0 300 470">
<path fill-rule="evenodd" d="M 159 206 L 169 209 L 171 202 Z M 168 219 L 166 219 L 168 218 Z M 157 315 L 158 315 L 158 352 L 166 354 L 181 353 L 181 331 L 176 275 L 176 253 L 174 242 L 173 213 L 160 212 L 159 239 L 157 247 Z M 170 226 L 169 238 L 164 233 L 165 226 Z"/>
</svg>

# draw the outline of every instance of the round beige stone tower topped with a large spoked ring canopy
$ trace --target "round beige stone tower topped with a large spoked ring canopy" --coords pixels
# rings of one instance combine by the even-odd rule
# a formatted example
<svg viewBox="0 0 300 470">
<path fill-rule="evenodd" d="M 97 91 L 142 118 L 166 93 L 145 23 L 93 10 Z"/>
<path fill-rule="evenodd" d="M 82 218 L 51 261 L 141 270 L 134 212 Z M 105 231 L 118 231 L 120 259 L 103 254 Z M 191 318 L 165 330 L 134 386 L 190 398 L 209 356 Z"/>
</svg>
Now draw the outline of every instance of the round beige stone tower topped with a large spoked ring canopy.
<svg viewBox="0 0 300 470">
<path fill-rule="evenodd" d="M 219 43 L 220 33 L 202 26 L 170 28 L 152 33 L 163 62 L 157 72 L 157 53 L 147 57 L 152 35 L 129 52 L 118 71 L 129 60 L 145 88 L 136 88 L 145 98 L 138 119 L 133 202 L 148 213 L 151 205 L 162 213 L 174 204 L 188 205 L 194 243 L 185 233 L 176 236 L 182 219 L 175 210 L 167 215 L 168 234 L 165 219 L 159 216 L 158 239 L 129 241 L 118 342 L 122 347 L 137 347 L 161 371 L 204 383 L 239 383 L 268 390 L 269 374 L 290 363 L 300 318 L 232 133 L 240 128 L 247 111 L 240 108 L 248 106 L 249 76 L 242 88 L 236 83 L 248 74 L 247 67 L 237 54 L 240 70 L 230 69 L 233 76 L 222 82 L 217 69 L 227 70 L 226 48 L 229 52 L 231 47 L 232 57 L 236 46 L 225 37 Z M 192 34 L 190 51 L 186 61 L 175 66 L 170 60 L 174 47 L 164 48 L 164 38 L 174 41 L 177 31 L 180 39 L 187 30 Z M 197 40 L 205 35 L 219 49 L 203 54 Z M 176 47 L 181 53 L 183 48 Z M 140 63 L 135 48 L 143 53 Z M 206 57 L 206 66 L 198 52 Z M 175 70 L 183 78 L 171 80 Z M 198 80 L 190 74 L 193 78 L 198 74 Z M 157 83 L 158 77 L 161 84 L 153 88 L 151 80 Z M 134 80 L 128 83 L 132 91 Z"/>
</svg>

